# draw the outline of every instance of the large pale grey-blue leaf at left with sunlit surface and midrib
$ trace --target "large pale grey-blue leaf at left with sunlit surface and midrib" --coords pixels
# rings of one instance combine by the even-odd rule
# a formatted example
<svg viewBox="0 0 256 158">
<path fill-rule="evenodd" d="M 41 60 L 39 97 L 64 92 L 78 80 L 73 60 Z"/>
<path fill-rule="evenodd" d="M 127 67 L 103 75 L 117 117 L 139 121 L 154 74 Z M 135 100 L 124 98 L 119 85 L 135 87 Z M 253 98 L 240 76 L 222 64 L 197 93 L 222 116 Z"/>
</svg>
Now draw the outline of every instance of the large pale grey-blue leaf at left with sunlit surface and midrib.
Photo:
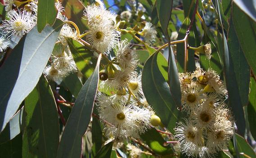
<svg viewBox="0 0 256 158">
<path fill-rule="evenodd" d="M 62 27 L 56 20 L 53 27 L 41 32 L 32 28 L 15 46 L 0 68 L 0 131 L 16 113 L 21 102 L 34 89 L 46 66 Z"/>
</svg>

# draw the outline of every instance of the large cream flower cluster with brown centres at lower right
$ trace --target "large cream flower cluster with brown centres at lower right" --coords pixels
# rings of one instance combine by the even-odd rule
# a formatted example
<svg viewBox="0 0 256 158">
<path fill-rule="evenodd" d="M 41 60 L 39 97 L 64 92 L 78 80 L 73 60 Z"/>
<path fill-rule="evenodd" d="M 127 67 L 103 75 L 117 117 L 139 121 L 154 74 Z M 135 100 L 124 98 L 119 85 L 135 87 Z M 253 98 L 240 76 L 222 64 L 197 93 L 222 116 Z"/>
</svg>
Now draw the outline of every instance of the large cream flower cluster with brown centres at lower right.
<svg viewBox="0 0 256 158">
<path fill-rule="evenodd" d="M 188 156 L 210 158 L 223 149 L 233 136 L 232 113 L 224 103 L 227 90 L 219 75 L 198 68 L 180 73 L 184 122 L 175 128 L 181 152 Z"/>
</svg>

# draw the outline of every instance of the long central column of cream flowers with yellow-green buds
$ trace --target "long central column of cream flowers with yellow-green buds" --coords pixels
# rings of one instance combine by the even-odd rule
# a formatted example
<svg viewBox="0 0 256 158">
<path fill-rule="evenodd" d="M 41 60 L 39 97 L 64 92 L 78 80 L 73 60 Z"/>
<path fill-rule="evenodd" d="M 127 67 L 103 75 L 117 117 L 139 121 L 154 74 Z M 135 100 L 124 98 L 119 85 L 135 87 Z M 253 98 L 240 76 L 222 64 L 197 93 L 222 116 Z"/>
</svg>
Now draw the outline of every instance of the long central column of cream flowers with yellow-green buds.
<svg viewBox="0 0 256 158">
<path fill-rule="evenodd" d="M 100 72 L 100 89 L 106 92 L 97 96 L 97 109 L 104 120 L 104 132 L 117 147 L 121 142 L 137 138 L 150 127 L 153 114 L 142 92 L 141 74 L 136 72 L 138 60 L 127 40 L 120 41 L 116 15 L 100 5 L 90 5 L 84 11 L 89 30 L 87 41 L 97 53 L 115 57 Z"/>
</svg>

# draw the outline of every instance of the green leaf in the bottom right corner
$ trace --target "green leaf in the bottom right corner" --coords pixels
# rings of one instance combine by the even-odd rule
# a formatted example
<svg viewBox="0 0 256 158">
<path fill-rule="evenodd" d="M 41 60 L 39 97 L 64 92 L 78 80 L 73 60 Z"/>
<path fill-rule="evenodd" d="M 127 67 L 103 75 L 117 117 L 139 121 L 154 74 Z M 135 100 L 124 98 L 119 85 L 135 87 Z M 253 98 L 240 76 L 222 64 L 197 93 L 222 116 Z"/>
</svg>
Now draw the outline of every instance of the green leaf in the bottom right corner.
<svg viewBox="0 0 256 158">
<path fill-rule="evenodd" d="M 236 140 L 237 140 L 238 152 L 240 153 L 239 155 L 240 158 L 248 158 L 248 156 L 251 158 L 256 158 L 255 152 L 242 136 L 236 134 Z M 248 156 L 244 156 L 244 154 Z"/>
</svg>

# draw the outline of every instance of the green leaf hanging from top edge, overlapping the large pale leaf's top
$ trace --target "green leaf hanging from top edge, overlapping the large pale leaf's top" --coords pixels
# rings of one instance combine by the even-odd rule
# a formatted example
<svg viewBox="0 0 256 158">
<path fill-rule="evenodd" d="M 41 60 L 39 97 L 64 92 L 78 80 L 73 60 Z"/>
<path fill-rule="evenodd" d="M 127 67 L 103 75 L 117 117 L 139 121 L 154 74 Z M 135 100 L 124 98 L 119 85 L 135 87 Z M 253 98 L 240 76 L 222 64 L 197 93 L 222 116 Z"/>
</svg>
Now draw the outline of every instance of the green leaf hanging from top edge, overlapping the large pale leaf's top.
<svg viewBox="0 0 256 158">
<path fill-rule="evenodd" d="M 56 20 L 58 10 L 55 0 L 38 0 L 37 8 L 37 30 L 41 32 L 46 24 L 52 26 Z"/>
</svg>

